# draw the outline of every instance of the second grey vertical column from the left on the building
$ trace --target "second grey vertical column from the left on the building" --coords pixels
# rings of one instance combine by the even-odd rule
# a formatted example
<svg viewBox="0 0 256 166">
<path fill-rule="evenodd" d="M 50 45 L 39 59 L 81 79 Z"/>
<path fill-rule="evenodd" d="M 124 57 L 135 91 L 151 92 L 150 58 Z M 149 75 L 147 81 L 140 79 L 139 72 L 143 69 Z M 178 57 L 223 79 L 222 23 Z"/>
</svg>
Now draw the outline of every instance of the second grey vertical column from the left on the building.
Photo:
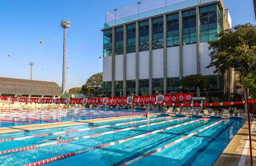
<svg viewBox="0 0 256 166">
<path fill-rule="evenodd" d="M 124 69 L 123 69 L 123 96 L 126 97 L 126 38 L 127 38 L 126 25 L 124 24 Z"/>
</svg>

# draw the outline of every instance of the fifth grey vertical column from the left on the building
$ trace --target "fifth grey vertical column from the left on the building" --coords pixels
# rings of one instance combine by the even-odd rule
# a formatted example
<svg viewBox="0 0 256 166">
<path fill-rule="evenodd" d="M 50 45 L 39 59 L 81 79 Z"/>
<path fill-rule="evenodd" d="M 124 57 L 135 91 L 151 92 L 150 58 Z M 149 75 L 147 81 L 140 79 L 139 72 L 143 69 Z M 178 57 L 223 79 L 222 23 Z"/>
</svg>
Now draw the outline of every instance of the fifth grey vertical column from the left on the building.
<svg viewBox="0 0 256 166">
<path fill-rule="evenodd" d="M 163 15 L 163 94 L 167 95 L 167 19 Z"/>
</svg>

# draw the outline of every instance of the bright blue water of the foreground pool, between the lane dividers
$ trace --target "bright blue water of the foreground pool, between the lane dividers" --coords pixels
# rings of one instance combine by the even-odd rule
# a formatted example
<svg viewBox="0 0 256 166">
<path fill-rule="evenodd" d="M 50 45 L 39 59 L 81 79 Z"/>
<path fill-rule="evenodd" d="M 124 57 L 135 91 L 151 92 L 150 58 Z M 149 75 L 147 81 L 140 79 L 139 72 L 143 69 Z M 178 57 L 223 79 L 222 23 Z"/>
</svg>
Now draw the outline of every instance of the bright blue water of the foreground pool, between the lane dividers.
<svg viewBox="0 0 256 166">
<path fill-rule="evenodd" d="M 110 121 L 93 123 L 89 125 L 78 125 L 72 127 L 59 127 L 30 132 L 2 134 L 0 135 L 0 139 L 37 135 L 57 131 L 67 131 L 93 126 L 102 126 L 106 124 L 130 122 L 142 119 L 145 118 L 134 118 L 132 120 L 129 119 L 120 121 Z M 141 135 L 150 131 L 171 127 L 177 124 L 189 122 L 191 120 L 196 119 L 197 118 L 188 118 L 173 122 L 166 122 L 154 126 L 136 128 L 130 131 L 120 131 L 114 134 L 100 135 L 94 138 L 79 139 L 65 144 L 50 145 L 39 149 L 30 149 L 27 151 L 0 154 L 0 163 L 2 164 L 1 166 L 24 165 L 31 162 L 44 160 L 50 157 L 56 157 L 66 153 L 71 153 L 82 149 L 98 146 L 101 144 L 122 140 L 135 135 Z M 162 122 L 165 120 L 168 119 L 158 119 L 149 122 L 137 122 L 134 124 L 100 128 L 90 131 L 73 132 L 68 133 L 68 136 L 65 139 L 75 138 L 84 135 L 92 135 L 106 131 L 113 131 L 122 128 L 141 126 L 144 124 Z M 46 166 L 118 166 L 119 164 L 128 162 L 136 157 L 139 157 L 145 153 L 157 149 L 165 144 L 171 143 L 172 141 L 177 140 L 194 131 L 198 131 L 203 127 L 207 127 L 215 122 L 217 122 L 216 119 L 207 118 L 203 121 L 194 122 L 181 127 L 173 128 L 168 131 L 148 135 L 146 137 L 139 139 L 129 140 L 127 142 L 124 142 L 123 144 L 115 144 L 114 146 L 108 146 L 102 149 L 94 149 L 72 157 L 63 158 L 61 160 L 57 160 L 56 162 L 46 164 Z M 237 133 L 240 127 L 242 127 L 242 125 L 243 122 L 225 120 L 213 127 L 210 127 L 202 132 L 199 132 L 197 135 L 194 135 L 184 141 L 174 144 L 168 147 L 167 149 L 163 149 L 158 153 L 154 153 L 153 155 L 143 158 L 138 162 L 131 164 L 131 166 L 212 166 L 217 157 L 225 149 L 227 144 L 229 144 L 231 139 L 234 137 L 234 135 Z M 51 139 L 55 137 L 56 135 L 41 138 L 30 138 L 26 140 L 1 142 L 0 147 L 1 150 L 21 148 L 24 146 L 39 144 L 37 143 L 38 141 L 44 139 Z"/>
</svg>

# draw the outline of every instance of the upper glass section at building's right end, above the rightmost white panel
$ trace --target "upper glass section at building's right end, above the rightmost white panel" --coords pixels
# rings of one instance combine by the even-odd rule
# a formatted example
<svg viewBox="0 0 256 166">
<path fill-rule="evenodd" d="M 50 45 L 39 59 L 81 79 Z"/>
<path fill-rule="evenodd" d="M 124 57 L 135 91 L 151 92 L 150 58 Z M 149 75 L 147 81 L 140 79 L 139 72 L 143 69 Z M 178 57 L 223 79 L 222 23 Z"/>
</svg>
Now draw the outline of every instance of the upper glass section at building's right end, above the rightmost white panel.
<svg viewBox="0 0 256 166">
<path fill-rule="evenodd" d="M 199 8 L 200 43 L 217 39 L 216 34 L 221 31 L 220 16 L 217 4 Z"/>
</svg>

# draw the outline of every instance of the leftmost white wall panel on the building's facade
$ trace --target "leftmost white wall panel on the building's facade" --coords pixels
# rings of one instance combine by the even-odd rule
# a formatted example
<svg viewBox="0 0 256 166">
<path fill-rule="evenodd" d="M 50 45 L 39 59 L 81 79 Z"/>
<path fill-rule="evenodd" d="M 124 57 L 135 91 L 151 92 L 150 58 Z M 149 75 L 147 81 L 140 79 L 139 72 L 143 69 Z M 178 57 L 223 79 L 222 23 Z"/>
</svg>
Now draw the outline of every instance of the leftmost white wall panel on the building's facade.
<svg viewBox="0 0 256 166">
<path fill-rule="evenodd" d="M 112 57 L 103 57 L 103 82 L 112 81 Z"/>
</svg>

